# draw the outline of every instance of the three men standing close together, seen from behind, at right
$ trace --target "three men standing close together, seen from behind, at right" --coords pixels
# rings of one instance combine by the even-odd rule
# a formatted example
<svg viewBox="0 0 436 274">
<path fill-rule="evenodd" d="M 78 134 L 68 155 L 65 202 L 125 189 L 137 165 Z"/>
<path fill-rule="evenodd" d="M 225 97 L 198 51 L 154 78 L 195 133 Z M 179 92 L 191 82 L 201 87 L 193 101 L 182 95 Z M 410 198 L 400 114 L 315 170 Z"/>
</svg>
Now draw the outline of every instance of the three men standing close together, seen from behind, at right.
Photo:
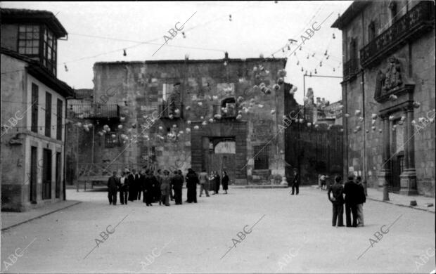
<svg viewBox="0 0 436 274">
<path fill-rule="evenodd" d="M 345 195 L 345 198 L 344 198 Z M 364 226 L 364 202 L 366 194 L 361 177 L 348 176 L 348 181 L 342 185 L 342 177 L 336 176 L 335 183 L 328 189 L 328 200 L 333 204 L 332 226 L 344 226 L 343 213 L 345 204 L 345 221 L 347 227 Z"/>
</svg>

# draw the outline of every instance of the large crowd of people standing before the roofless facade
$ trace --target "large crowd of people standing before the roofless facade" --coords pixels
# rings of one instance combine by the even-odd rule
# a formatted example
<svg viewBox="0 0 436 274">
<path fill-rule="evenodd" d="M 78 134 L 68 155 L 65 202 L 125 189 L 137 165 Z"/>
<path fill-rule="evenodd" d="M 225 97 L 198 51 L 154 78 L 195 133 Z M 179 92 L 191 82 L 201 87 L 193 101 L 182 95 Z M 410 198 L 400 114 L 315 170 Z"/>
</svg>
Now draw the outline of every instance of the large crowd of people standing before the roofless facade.
<svg viewBox="0 0 436 274">
<path fill-rule="evenodd" d="M 223 171 L 222 185 L 223 190 L 226 191 L 229 185 L 229 176 L 226 171 Z M 206 179 L 214 181 L 214 194 L 219 193 L 220 177 L 217 171 L 212 171 L 211 176 L 207 176 L 204 171 L 199 176 L 195 174 L 193 169 L 188 169 L 188 174 L 184 178 L 181 170 L 174 171 L 170 176 L 168 170 L 158 170 L 155 174 L 153 171 L 147 169 L 136 173 L 133 169 L 132 172 L 126 169 L 122 172 L 122 176 L 117 176 L 117 171 L 113 171 L 113 176 L 108 179 L 108 199 L 109 204 L 117 204 L 117 193 L 120 193 L 121 204 L 127 204 L 128 201 L 134 202 L 141 200 L 141 193 L 143 202 L 147 207 L 152 206 L 153 202 L 159 202 L 160 205 L 165 204 L 169 206 L 169 200 L 174 200 L 175 204 L 182 204 L 182 188 L 184 181 L 186 181 L 186 188 L 188 190 L 186 202 L 197 202 L 197 185 L 200 184 L 200 197 L 203 190 L 209 196 L 205 184 Z"/>
</svg>

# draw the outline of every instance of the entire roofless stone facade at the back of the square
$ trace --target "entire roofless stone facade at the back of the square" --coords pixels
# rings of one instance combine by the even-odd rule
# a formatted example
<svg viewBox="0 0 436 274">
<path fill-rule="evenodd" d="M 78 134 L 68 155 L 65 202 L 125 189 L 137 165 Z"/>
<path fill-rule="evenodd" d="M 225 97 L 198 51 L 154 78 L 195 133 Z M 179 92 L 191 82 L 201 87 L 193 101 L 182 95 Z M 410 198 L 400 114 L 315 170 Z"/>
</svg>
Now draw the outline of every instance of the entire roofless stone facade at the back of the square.
<svg viewBox="0 0 436 274">
<path fill-rule="evenodd" d="M 94 97 L 69 105 L 79 169 L 225 169 L 231 183 L 280 183 L 285 65 L 227 56 L 96 63 Z"/>
</svg>

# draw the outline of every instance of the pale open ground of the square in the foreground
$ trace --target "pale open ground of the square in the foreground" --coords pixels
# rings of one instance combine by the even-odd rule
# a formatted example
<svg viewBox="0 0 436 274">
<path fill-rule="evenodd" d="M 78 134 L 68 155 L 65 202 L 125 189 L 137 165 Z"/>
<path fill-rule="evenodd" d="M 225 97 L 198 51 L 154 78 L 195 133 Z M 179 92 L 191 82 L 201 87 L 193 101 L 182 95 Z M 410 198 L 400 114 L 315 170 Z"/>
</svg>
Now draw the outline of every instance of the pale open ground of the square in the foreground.
<svg viewBox="0 0 436 274">
<path fill-rule="evenodd" d="M 331 226 L 326 192 L 231 188 L 197 204 L 82 203 L 5 230 L 6 273 L 430 273 L 435 214 L 368 200 L 361 228 Z M 184 200 L 186 190 L 184 190 Z M 86 258 L 85 258 L 86 257 Z M 427 259 L 426 259 L 427 258 Z"/>
</svg>

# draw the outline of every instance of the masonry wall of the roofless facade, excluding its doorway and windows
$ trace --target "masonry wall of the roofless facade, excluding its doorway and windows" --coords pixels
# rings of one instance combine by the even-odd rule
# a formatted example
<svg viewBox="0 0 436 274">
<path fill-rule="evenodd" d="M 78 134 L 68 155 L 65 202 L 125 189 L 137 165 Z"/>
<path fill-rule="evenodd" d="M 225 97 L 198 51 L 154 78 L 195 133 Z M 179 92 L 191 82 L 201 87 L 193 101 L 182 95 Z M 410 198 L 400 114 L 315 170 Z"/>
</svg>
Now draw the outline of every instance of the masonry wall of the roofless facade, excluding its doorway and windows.
<svg viewBox="0 0 436 274">
<path fill-rule="evenodd" d="M 121 119 L 84 121 L 94 124 L 94 162 L 153 164 L 156 169 L 184 172 L 192 166 L 200 171 L 204 161 L 200 159 L 203 156 L 198 138 L 225 136 L 231 131 L 236 137 L 236 183 L 252 181 L 252 146 L 265 144 L 268 144 L 269 171 L 256 178 L 270 183 L 271 176 L 284 175 L 283 132 L 278 131 L 284 114 L 283 85 L 277 91 L 272 86 L 278 70 L 285 65 L 284 59 L 268 58 L 96 63 L 94 100 L 101 103 L 108 89 L 113 89 L 105 104 L 120 105 Z M 258 67 L 257 72 L 253 67 Z M 253 89 L 262 82 L 271 89 L 270 94 Z M 163 93 L 168 97 L 172 91 L 179 91 L 181 118 L 169 119 L 160 113 Z M 211 123 L 214 109 L 226 98 L 239 98 L 238 110 L 243 107 L 250 110 L 243 112 L 239 119 L 214 119 Z M 120 139 L 114 148 L 105 148 L 105 137 L 98 135 L 104 125 L 110 126 L 111 133 L 116 131 L 129 139 Z M 169 138 L 167 133 L 174 133 L 174 138 Z M 79 154 L 83 155 L 79 161 L 89 160 L 90 134 L 91 131 L 81 133 L 84 143 L 79 145 Z"/>
</svg>

